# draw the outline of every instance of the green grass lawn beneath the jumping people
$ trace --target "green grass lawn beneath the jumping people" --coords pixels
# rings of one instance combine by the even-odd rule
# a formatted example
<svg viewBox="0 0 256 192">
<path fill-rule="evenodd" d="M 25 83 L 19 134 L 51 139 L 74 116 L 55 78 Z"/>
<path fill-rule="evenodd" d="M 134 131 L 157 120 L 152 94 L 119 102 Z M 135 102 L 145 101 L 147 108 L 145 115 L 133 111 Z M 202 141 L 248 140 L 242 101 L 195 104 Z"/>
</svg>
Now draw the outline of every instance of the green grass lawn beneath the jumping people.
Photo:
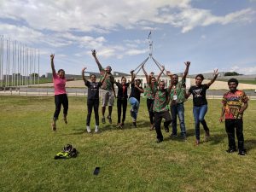
<svg viewBox="0 0 256 192">
<path fill-rule="evenodd" d="M 137 128 L 131 126 L 128 108 L 125 128 L 117 129 L 114 107 L 113 125 L 100 125 L 99 134 L 85 132 L 84 97 L 69 97 L 68 124 L 60 118 L 55 132 L 50 127 L 54 97 L 0 99 L 1 192 L 256 190 L 256 101 L 249 102 L 244 115 L 247 155 L 239 156 L 225 152 L 227 136 L 224 124 L 218 123 L 220 100 L 208 100 L 212 137 L 195 147 L 191 100 L 185 105 L 187 142 L 170 140 L 163 131 L 164 142 L 155 143 L 144 99 Z M 79 150 L 79 156 L 54 160 L 67 143 Z M 98 176 L 92 174 L 96 166 L 101 167 Z"/>
</svg>

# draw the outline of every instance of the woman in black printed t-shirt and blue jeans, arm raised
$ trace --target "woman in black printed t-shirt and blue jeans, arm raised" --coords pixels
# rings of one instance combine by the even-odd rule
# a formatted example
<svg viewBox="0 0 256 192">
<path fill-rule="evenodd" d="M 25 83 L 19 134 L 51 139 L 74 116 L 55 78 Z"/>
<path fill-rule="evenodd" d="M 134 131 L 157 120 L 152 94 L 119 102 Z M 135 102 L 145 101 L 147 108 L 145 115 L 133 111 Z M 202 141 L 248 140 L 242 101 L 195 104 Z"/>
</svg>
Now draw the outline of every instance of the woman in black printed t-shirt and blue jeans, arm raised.
<svg viewBox="0 0 256 192">
<path fill-rule="evenodd" d="M 207 113 L 207 89 L 213 84 L 213 82 L 218 77 L 218 69 L 213 72 L 213 79 L 210 80 L 207 84 L 201 84 L 204 80 L 202 74 L 195 76 L 195 85 L 191 86 L 189 92 L 186 94 L 186 98 L 193 95 L 193 114 L 195 119 L 195 144 L 200 144 L 200 123 L 203 125 L 203 128 L 206 133 L 206 139 L 210 137 L 210 130 L 207 126 L 207 121 L 205 120 L 205 115 Z"/>
</svg>

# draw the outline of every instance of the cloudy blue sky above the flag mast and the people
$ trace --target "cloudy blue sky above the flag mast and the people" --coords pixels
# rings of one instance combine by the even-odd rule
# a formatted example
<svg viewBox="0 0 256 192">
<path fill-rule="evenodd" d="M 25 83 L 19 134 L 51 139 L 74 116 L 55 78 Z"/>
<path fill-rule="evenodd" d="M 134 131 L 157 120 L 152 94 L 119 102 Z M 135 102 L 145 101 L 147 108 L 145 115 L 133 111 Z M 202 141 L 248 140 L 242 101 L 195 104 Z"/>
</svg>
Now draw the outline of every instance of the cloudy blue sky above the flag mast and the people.
<svg viewBox="0 0 256 192">
<path fill-rule="evenodd" d="M 0 0 L 0 35 L 40 49 L 41 74 L 55 67 L 128 73 L 153 56 L 173 73 L 256 73 L 256 0 Z M 148 71 L 157 72 L 149 60 Z"/>
</svg>

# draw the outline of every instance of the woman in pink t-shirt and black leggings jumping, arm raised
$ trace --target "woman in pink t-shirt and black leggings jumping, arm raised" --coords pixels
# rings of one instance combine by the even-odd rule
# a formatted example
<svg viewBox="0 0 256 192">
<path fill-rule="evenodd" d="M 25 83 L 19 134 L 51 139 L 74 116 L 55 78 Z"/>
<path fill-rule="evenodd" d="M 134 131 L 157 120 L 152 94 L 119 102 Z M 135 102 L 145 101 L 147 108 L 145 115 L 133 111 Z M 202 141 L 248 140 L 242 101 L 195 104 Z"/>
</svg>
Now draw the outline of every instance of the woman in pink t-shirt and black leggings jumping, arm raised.
<svg viewBox="0 0 256 192">
<path fill-rule="evenodd" d="M 63 119 L 64 122 L 67 124 L 68 99 L 66 82 L 73 79 L 66 79 L 65 71 L 63 69 L 59 69 L 58 73 L 56 73 L 54 59 L 55 55 L 50 55 L 50 67 L 52 70 L 53 83 L 55 87 L 55 113 L 51 127 L 53 131 L 56 131 L 56 120 L 59 119 L 61 105 L 63 106 Z"/>
</svg>

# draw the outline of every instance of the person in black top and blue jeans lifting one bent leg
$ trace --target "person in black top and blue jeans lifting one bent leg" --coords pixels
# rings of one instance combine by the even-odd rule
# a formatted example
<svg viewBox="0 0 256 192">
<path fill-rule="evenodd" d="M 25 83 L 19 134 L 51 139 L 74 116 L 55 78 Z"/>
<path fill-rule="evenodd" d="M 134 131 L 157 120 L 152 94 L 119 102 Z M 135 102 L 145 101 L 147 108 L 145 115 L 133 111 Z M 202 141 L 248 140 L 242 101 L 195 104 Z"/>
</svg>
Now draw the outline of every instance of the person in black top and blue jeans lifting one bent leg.
<svg viewBox="0 0 256 192">
<path fill-rule="evenodd" d="M 141 93 L 144 92 L 143 87 L 140 87 L 141 79 L 135 79 L 135 75 L 133 73 L 134 71 L 131 71 L 131 94 L 129 96 L 129 102 L 131 104 L 131 117 L 132 117 L 132 124 L 137 127 L 136 120 L 137 120 L 137 113 L 138 108 L 140 107 L 140 99 L 141 99 Z"/>
</svg>

